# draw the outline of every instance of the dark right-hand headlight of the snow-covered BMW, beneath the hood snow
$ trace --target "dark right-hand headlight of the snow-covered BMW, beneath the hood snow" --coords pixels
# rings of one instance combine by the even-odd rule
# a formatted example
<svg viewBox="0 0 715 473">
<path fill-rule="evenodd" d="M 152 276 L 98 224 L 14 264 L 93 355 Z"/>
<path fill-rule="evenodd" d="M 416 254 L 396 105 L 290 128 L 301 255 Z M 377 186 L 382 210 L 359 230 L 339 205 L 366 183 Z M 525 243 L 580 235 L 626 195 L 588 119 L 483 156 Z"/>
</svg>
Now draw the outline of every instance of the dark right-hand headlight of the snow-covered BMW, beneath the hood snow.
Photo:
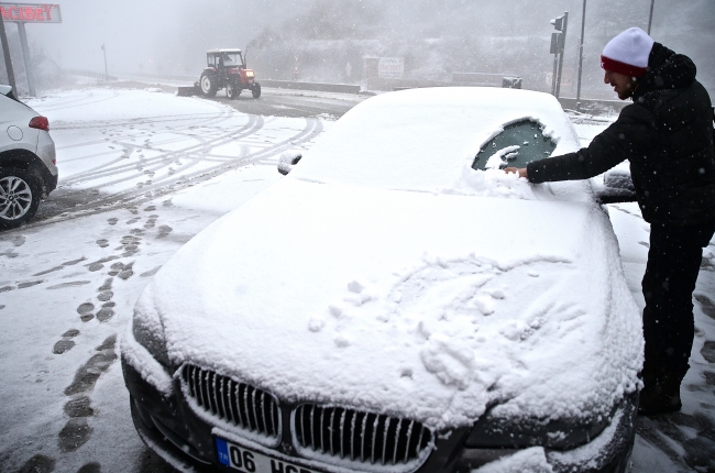
<svg viewBox="0 0 715 473">
<path fill-rule="evenodd" d="M 488 413 L 480 418 L 466 439 L 466 447 L 484 449 L 544 447 L 566 450 L 588 443 L 610 424 L 616 405 L 606 416 L 594 419 L 538 420 L 502 419 Z"/>
</svg>

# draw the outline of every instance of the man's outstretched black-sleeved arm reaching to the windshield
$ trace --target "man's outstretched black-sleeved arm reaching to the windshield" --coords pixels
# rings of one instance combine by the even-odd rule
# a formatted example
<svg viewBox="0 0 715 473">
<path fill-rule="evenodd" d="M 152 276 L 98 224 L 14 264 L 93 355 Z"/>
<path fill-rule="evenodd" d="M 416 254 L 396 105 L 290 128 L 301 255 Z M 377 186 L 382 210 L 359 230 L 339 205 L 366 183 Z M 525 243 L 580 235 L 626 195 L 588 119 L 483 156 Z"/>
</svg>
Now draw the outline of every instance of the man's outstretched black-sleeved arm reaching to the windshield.
<svg viewBox="0 0 715 473">
<path fill-rule="evenodd" d="M 507 168 L 530 183 L 579 180 L 597 176 L 634 155 L 645 155 L 656 140 L 652 114 L 640 106 L 626 107 L 618 120 L 596 135 L 588 147 L 534 161 L 526 168 Z"/>
</svg>

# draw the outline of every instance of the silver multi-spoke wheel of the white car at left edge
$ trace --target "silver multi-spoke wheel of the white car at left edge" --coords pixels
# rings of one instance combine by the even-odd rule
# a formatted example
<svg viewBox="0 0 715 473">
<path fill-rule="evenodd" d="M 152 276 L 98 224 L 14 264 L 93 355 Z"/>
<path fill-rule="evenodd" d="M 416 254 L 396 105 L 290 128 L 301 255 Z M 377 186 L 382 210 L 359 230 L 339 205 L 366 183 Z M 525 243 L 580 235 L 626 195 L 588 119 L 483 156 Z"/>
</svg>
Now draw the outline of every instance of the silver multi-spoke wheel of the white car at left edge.
<svg viewBox="0 0 715 473">
<path fill-rule="evenodd" d="M 0 168 L 0 228 L 11 229 L 34 217 L 40 205 L 41 186 L 31 174 Z"/>
</svg>

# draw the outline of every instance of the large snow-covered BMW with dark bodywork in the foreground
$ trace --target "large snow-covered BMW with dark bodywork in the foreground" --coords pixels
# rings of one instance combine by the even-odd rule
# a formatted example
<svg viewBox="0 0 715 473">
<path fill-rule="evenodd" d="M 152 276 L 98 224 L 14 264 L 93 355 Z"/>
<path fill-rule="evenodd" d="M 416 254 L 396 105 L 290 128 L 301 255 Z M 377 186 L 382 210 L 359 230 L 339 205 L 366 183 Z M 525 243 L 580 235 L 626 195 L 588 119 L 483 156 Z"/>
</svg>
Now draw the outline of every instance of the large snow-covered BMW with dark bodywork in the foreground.
<svg viewBox="0 0 715 473">
<path fill-rule="evenodd" d="M 578 147 L 540 92 L 356 106 L 143 292 L 139 435 L 187 470 L 625 471 L 644 341 L 607 211 L 499 170 Z"/>
</svg>

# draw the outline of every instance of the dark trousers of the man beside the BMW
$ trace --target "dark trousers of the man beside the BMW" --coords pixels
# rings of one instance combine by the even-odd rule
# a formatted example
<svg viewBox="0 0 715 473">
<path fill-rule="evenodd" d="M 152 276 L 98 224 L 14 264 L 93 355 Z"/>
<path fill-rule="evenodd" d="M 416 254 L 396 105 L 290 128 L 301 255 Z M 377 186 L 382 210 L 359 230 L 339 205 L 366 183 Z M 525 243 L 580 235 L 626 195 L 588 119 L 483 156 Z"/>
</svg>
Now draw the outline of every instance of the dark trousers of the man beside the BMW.
<svg viewBox="0 0 715 473">
<path fill-rule="evenodd" d="M 690 365 L 695 334 L 693 290 L 703 248 L 715 233 L 715 221 L 689 227 L 653 223 L 642 280 L 646 308 L 644 378 L 663 374 L 682 380 Z"/>
</svg>

